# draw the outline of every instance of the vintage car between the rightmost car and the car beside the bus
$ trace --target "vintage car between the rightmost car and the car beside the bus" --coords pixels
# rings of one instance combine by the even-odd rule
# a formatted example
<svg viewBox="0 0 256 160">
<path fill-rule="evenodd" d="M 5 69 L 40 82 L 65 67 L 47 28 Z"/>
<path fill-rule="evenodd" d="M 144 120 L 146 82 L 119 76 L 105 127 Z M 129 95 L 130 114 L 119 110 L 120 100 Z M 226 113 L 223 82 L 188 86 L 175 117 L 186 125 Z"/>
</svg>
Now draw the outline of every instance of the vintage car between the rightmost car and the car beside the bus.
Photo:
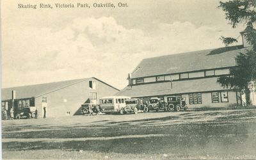
<svg viewBox="0 0 256 160">
<path fill-rule="evenodd" d="M 149 104 L 147 106 L 148 112 L 151 110 L 159 111 L 164 110 L 167 111 L 167 103 L 164 102 L 164 100 L 161 100 L 159 98 L 151 98 L 149 100 Z M 147 109 L 144 109 L 145 112 L 147 112 Z"/>
</svg>

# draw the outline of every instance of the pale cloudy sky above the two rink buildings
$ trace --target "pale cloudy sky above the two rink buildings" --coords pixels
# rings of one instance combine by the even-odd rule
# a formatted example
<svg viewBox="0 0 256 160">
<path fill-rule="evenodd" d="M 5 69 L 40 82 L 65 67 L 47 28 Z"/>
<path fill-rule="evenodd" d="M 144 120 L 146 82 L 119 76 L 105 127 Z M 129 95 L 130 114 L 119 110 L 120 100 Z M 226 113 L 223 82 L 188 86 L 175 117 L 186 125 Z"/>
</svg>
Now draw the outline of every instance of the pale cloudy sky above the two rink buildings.
<svg viewBox="0 0 256 160">
<path fill-rule="evenodd" d="M 122 89 L 144 58 L 224 47 L 220 36 L 237 38 L 244 29 L 233 29 L 215 0 L 108 2 L 116 7 L 93 8 L 103 0 L 1 1 L 2 88 L 97 77 Z M 18 8 L 40 3 L 52 9 Z"/>
</svg>

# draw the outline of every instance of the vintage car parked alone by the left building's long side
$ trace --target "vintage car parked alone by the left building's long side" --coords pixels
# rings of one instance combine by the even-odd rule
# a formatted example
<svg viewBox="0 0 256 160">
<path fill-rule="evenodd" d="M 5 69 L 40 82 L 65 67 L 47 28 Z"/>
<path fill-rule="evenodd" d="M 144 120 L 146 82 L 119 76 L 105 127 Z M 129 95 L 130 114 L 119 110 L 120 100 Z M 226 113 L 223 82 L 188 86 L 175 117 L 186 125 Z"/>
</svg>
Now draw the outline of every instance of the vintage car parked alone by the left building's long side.
<svg viewBox="0 0 256 160">
<path fill-rule="evenodd" d="M 16 119 L 20 118 L 36 118 L 36 107 L 22 108 L 17 111 Z"/>
</svg>

